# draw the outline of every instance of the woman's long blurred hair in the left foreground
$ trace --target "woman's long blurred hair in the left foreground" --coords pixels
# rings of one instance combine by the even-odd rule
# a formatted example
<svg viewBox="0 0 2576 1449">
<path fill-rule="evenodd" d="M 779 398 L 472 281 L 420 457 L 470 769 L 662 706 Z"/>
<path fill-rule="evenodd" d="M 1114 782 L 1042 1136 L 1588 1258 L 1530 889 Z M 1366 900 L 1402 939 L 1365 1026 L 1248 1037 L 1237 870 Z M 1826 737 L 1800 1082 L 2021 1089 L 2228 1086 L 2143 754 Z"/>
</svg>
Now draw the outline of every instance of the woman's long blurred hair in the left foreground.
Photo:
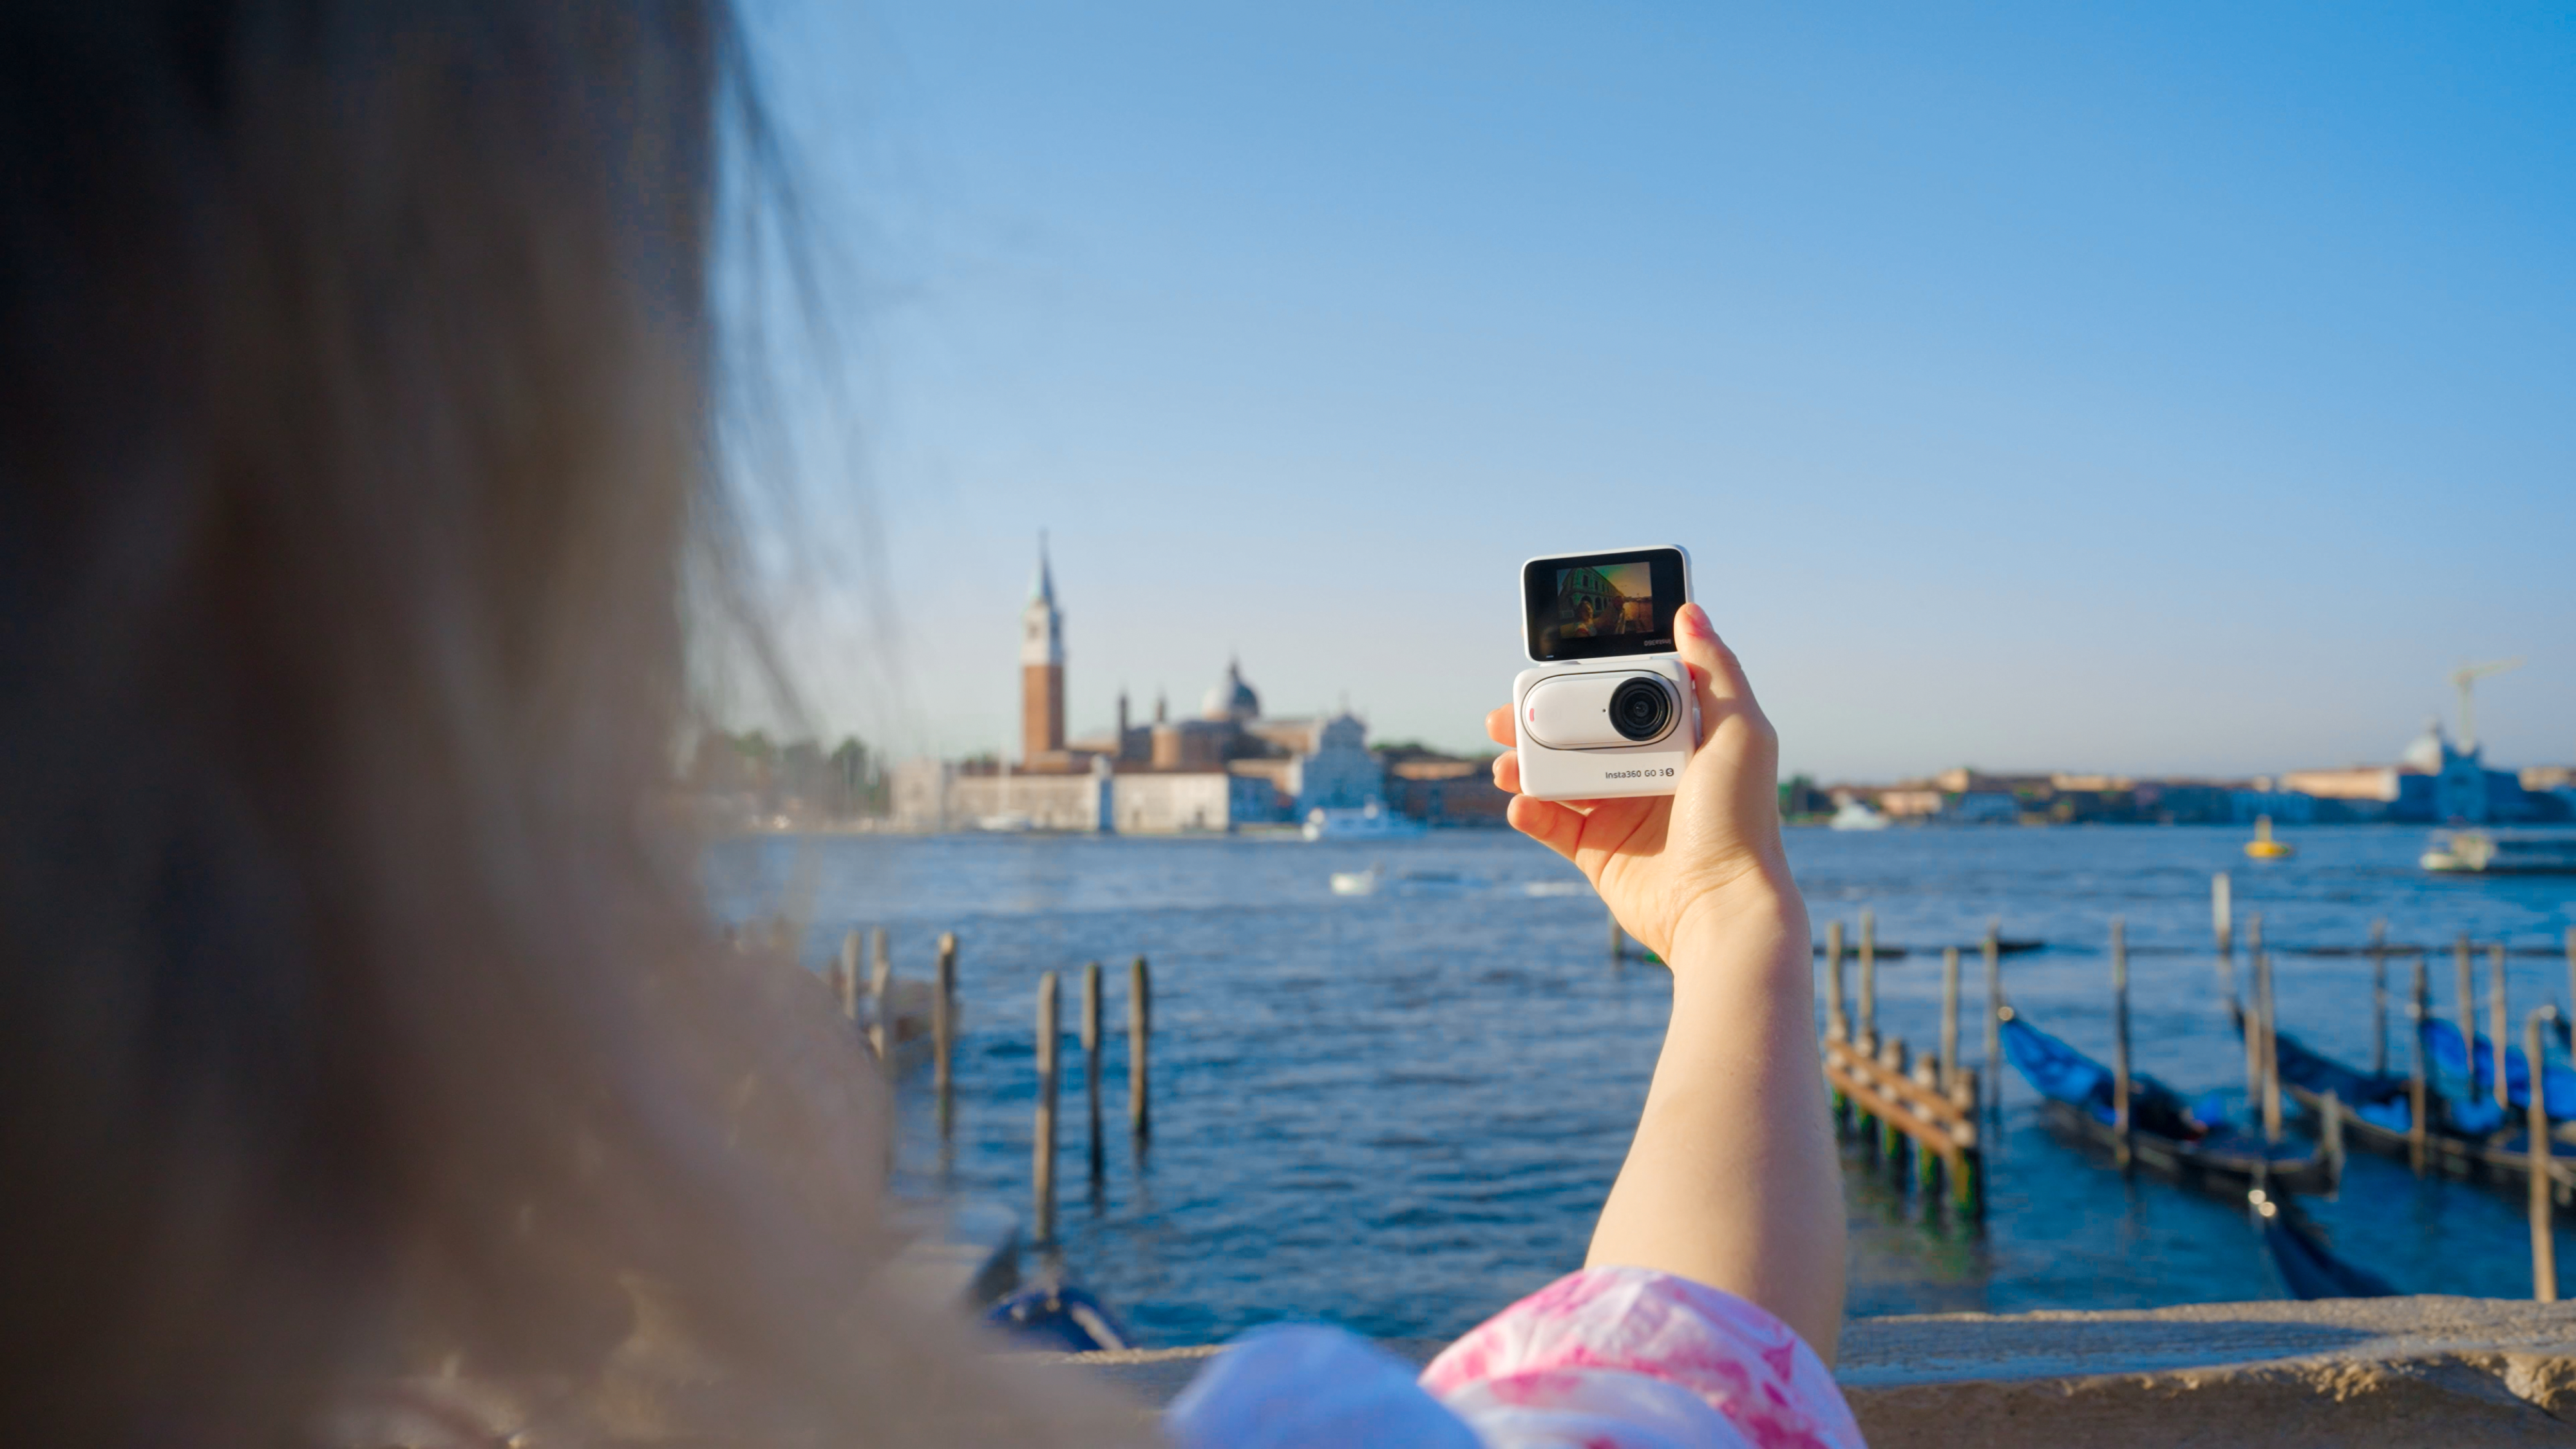
<svg viewBox="0 0 2576 1449">
<path fill-rule="evenodd" d="M 10 1441 L 1133 1428 L 881 1287 L 884 1093 L 652 810 L 742 75 L 721 0 L 0 13 Z"/>
</svg>

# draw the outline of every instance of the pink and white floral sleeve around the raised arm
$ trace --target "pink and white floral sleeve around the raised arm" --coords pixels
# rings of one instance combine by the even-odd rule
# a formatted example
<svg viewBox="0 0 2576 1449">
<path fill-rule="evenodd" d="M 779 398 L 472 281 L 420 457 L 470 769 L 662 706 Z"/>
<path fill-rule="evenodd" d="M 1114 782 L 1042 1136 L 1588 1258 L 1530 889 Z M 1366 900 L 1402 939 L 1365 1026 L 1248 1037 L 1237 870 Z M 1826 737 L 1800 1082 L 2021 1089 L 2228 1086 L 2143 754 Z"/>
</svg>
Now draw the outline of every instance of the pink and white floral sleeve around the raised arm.
<svg viewBox="0 0 2576 1449">
<path fill-rule="evenodd" d="M 1824 1359 L 1785 1323 L 1649 1269 L 1587 1269 L 1422 1372 L 1486 1449 L 1862 1449 Z"/>
</svg>

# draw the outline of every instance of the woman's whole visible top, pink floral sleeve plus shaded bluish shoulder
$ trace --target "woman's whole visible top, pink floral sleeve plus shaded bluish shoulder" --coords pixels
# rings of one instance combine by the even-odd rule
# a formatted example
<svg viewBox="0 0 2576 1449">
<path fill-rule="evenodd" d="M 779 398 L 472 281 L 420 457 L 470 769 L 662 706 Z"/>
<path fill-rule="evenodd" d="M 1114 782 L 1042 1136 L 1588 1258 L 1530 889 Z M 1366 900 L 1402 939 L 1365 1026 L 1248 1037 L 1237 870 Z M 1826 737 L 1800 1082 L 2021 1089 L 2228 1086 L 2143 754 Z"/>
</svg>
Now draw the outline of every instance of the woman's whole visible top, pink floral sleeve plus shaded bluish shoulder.
<svg viewBox="0 0 2576 1449">
<path fill-rule="evenodd" d="M 1337 1328 L 1249 1333 L 1164 1431 L 1182 1449 L 1862 1449 L 1834 1377 L 1785 1323 L 1646 1269 L 1558 1279 L 1419 1382 Z"/>
</svg>

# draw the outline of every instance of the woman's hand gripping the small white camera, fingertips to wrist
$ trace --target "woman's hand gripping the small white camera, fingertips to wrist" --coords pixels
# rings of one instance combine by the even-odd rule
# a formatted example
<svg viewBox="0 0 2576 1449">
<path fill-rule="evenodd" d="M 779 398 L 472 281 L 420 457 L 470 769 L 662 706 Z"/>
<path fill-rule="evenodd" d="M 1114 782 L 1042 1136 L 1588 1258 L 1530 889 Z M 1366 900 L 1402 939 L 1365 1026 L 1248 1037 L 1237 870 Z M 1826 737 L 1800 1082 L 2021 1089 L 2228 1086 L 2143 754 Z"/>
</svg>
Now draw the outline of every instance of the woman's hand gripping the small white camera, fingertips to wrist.
<svg viewBox="0 0 2576 1449">
<path fill-rule="evenodd" d="M 1780 913 L 1793 900 L 1780 848 L 1780 737 L 1754 704 L 1708 611 L 1685 603 L 1674 645 L 1700 699 L 1700 748 L 1674 794 L 1628 799 L 1530 799 L 1520 758 L 1494 761 L 1494 784 L 1512 792 L 1512 828 L 1582 866 L 1613 915 L 1667 962 L 1674 944 L 1731 915 Z M 1512 709 L 1484 719 L 1497 745 L 1512 743 Z"/>
</svg>

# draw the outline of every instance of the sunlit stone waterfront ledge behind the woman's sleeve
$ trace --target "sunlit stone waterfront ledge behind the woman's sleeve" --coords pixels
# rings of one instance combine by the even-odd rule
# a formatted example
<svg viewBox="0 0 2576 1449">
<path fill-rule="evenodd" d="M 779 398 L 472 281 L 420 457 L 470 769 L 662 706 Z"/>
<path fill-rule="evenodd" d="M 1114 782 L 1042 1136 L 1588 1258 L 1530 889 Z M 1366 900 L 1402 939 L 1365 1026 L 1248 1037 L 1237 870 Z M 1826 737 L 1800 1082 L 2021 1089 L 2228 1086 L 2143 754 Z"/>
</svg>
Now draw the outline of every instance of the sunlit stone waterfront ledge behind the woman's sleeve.
<svg viewBox="0 0 2576 1449">
<path fill-rule="evenodd" d="M 1388 1351 L 1427 1361 L 1440 1343 Z M 1216 1348 L 1059 1354 L 1167 1403 Z M 2576 1305 L 2478 1297 L 1862 1318 L 1834 1374 L 1873 1449 L 2576 1446 Z"/>
</svg>

